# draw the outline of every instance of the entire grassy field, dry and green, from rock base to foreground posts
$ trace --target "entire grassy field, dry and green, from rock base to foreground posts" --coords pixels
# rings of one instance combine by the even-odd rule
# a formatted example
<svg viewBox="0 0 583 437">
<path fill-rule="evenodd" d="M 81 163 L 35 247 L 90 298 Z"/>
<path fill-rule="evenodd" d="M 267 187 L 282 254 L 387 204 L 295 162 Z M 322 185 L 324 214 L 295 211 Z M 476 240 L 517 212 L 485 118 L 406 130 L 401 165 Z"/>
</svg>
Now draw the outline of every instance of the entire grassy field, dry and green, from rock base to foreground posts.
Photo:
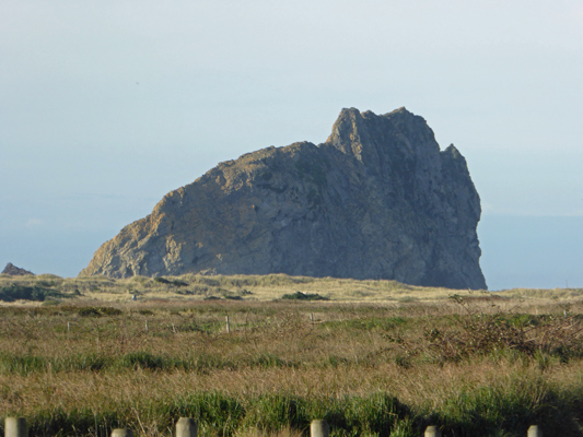
<svg viewBox="0 0 583 437">
<path fill-rule="evenodd" d="M 0 415 L 37 436 L 172 435 L 184 415 L 209 437 L 305 435 L 313 418 L 335 437 L 581 436 L 582 295 L 0 275 Z"/>
</svg>

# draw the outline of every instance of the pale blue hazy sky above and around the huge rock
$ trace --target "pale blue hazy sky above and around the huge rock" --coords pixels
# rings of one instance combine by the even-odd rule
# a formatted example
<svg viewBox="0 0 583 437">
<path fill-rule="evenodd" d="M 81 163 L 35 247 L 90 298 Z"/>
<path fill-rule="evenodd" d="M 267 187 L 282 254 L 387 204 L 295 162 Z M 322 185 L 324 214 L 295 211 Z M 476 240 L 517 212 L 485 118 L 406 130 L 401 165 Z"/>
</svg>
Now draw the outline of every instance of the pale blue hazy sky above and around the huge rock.
<svg viewBox="0 0 583 437">
<path fill-rule="evenodd" d="M 490 290 L 583 287 L 579 0 L 0 1 L 0 269 L 73 276 L 221 161 L 422 116 L 481 197 Z"/>
</svg>

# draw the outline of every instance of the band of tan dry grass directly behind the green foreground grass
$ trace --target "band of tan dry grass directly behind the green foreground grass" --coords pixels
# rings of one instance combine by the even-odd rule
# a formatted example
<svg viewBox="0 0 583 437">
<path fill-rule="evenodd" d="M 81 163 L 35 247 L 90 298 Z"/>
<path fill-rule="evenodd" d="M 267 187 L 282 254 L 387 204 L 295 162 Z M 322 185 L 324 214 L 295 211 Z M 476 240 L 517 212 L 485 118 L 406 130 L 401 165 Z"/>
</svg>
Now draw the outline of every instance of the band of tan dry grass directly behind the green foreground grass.
<svg viewBox="0 0 583 437">
<path fill-rule="evenodd" d="M 83 405 L 94 411 L 138 410 L 154 401 L 186 397 L 197 391 L 220 391 L 235 398 L 265 393 L 288 393 L 299 397 L 343 398 L 385 391 L 401 402 L 438 410 L 463 389 L 504 387 L 544 377 L 550 385 L 581 386 L 583 365 L 573 363 L 543 371 L 523 363 L 476 361 L 463 365 L 420 365 L 406 369 L 386 363 L 362 371 L 340 366 L 329 368 L 246 368 L 237 371 L 217 370 L 209 374 L 190 371 L 120 373 L 73 371 L 65 375 L 38 373 L 31 376 L 0 376 L 2 413 L 18 411 L 28 415 L 47 405 L 71 409 Z"/>
</svg>

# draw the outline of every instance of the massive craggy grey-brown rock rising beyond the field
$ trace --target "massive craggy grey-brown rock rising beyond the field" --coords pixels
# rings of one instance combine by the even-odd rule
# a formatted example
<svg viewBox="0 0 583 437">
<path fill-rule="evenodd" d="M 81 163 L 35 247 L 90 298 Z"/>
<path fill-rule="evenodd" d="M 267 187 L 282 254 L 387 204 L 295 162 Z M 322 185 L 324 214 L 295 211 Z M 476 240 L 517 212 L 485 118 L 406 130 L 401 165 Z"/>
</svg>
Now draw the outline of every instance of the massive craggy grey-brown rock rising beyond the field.
<svg viewBox="0 0 583 437">
<path fill-rule="evenodd" d="M 480 199 L 405 108 L 343 109 L 328 140 L 219 164 L 126 226 L 81 275 L 268 274 L 486 288 Z"/>
</svg>

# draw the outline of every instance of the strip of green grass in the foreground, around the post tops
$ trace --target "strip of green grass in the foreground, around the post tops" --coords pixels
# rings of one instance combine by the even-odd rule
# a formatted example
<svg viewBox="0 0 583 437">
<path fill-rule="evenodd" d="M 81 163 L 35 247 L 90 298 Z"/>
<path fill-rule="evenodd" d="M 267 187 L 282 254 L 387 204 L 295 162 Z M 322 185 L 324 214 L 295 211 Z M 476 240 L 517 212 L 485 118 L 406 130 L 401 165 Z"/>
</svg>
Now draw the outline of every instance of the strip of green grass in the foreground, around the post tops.
<svg viewBox="0 0 583 437">
<path fill-rule="evenodd" d="M 186 416 L 197 418 L 201 436 L 229 437 L 253 429 L 277 433 L 284 428 L 305 435 L 311 421 L 320 418 L 328 422 L 333 436 L 412 437 L 421 435 L 429 424 L 440 426 L 444 436 L 525 436 L 529 425 L 539 424 L 545 435 L 569 437 L 581 435 L 576 421 L 579 394 L 558 392 L 544 381 L 511 381 L 505 390 L 464 388 L 441 409 L 428 412 L 383 392 L 335 399 L 287 393 L 235 398 L 198 392 L 98 412 L 47 408 L 27 418 L 35 436 L 105 436 L 115 427 L 160 435 Z"/>
</svg>

